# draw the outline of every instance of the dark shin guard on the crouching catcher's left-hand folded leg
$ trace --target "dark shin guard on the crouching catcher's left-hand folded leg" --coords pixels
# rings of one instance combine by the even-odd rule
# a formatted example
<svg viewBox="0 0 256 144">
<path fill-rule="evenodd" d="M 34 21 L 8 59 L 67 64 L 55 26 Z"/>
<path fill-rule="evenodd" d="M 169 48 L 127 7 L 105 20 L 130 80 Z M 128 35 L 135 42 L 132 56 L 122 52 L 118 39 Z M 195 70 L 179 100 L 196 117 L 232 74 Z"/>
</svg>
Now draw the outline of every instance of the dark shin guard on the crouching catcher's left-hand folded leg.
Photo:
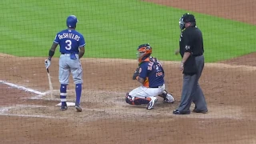
<svg viewBox="0 0 256 144">
<path fill-rule="evenodd" d="M 138 98 L 138 97 L 131 97 L 129 93 L 126 94 L 126 102 L 130 105 L 142 105 L 148 104 L 151 101 L 151 98 Z"/>
</svg>

